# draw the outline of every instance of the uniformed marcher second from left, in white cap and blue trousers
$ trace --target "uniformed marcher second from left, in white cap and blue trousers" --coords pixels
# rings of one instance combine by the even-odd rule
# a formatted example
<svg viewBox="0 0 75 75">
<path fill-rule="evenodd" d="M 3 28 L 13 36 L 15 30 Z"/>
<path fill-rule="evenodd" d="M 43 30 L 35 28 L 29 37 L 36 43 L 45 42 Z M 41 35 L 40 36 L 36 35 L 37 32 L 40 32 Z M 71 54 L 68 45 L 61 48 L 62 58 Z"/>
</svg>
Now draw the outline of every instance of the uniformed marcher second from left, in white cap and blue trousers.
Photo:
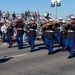
<svg viewBox="0 0 75 75">
<path fill-rule="evenodd" d="M 24 22 L 21 17 L 18 18 L 18 21 L 16 22 L 16 41 L 18 43 L 19 49 L 23 49 L 23 27 L 24 27 Z"/>
</svg>

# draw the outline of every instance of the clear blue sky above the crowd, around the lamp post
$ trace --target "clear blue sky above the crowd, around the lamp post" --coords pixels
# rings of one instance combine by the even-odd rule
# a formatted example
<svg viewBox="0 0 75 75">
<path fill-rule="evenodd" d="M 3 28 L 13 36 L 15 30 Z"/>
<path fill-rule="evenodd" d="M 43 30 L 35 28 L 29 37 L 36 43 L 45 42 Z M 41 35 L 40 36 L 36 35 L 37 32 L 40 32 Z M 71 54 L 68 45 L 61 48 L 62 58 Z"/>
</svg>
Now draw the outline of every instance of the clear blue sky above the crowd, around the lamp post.
<svg viewBox="0 0 75 75">
<path fill-rule="evenodd" d="M 45 11 L 55 15 L 55 8 L 51 8 L 51 0 L 0 0 L 0 9 L 2 11 L 21 13 L 25 10 L 39 11 L 43 14 Z M 61 7 L 58 7 L 58 17 L 75 14 L 75 0 L 61 0 Z"/>
</svg>

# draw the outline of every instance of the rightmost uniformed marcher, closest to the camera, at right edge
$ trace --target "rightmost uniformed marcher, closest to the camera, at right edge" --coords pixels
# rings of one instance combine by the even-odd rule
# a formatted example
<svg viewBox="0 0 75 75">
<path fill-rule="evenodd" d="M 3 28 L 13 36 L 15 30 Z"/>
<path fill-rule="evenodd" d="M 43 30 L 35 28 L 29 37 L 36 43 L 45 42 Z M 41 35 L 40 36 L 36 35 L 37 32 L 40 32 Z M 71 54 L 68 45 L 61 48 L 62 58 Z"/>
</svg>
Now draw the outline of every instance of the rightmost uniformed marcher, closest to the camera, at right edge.
<svg viewBox="0 0 75 75">
<path fill-rule="evenodd" d="M 68 58 L 74 57 L 74 44 L 75 44 L 75 17 L 71 17 L 71 24 L 68 25 L 68 33 L 67 33 L 67 40 L 66 46 L 69 49 L 70 55 Z"/>
</svg>

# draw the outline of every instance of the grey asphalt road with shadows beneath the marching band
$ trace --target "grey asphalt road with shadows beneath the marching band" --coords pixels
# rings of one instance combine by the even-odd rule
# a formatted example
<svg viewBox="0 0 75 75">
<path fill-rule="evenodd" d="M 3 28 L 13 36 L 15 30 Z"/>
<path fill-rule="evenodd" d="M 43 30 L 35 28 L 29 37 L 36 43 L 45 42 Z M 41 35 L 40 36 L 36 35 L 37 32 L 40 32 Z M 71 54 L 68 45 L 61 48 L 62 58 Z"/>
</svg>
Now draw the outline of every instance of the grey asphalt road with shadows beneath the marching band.
<svg viewBox="0 0 75 75">
<path fill-rule="evenodd" d="M 43 42 L 36 42 L 30 53 L 28 43 L 19 50 L 0 43 L 0 75 L 75 75 L 75 58 L 68 59 L 69 52 L 62 52 L 54 45 L 54 54 L 48 55 Z"/>
</svg>

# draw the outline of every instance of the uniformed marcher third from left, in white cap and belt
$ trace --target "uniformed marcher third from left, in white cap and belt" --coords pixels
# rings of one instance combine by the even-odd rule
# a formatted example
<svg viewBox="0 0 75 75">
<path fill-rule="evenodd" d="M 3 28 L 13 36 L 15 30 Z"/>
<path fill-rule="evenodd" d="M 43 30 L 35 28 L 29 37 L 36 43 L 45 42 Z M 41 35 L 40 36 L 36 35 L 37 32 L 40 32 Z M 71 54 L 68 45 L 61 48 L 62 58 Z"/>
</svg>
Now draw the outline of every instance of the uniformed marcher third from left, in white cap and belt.
<svg viewBox="0 0 75 75">
<path fill-rule="evenodd" d="M 34 51 L 34 40 L 36 37 L 36 29 L 37 29 L 37 24 L 35 23 L 35 19 L 31 19 L 32 23 L 30 24 L 30 29 L 29 29 L 29 35 L 28 35 L 28 43 L 30 45 L 30 52 Z"/>
</svg>

